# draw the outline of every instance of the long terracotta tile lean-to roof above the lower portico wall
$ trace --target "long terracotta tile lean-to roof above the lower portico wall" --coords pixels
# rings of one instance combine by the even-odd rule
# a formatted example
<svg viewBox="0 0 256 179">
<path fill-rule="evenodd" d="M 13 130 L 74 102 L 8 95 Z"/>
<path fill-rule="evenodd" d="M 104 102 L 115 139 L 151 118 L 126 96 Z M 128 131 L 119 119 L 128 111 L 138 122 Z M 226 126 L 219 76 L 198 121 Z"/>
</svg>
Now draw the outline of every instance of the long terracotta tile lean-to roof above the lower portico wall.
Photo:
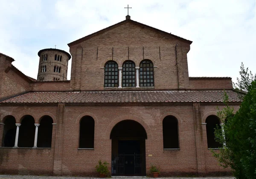
<svg viewBox="0 0 256 179">
<path fill-rule="evenodd" d="M 230 102 L 241 102 L 235 91 L 226 91 Z M 222 102 L 224 91 L 92 91 L 29 92 L 0 103 L 127 103 Z"/>
</svg>

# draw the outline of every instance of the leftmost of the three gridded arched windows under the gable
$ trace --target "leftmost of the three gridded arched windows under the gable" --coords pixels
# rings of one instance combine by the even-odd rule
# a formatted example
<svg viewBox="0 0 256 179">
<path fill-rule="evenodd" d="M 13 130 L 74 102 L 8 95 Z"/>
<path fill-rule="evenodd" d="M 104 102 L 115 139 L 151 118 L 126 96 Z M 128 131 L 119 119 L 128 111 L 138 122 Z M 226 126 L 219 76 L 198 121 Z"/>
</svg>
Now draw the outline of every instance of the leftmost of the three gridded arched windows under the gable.
<svg viewBox="0 0 256 179">
<path fill-rule="evenodd" d="M 105 64 L 104 87 L 118 87 L 118 65 L 115 61 Z"/>
</svg>

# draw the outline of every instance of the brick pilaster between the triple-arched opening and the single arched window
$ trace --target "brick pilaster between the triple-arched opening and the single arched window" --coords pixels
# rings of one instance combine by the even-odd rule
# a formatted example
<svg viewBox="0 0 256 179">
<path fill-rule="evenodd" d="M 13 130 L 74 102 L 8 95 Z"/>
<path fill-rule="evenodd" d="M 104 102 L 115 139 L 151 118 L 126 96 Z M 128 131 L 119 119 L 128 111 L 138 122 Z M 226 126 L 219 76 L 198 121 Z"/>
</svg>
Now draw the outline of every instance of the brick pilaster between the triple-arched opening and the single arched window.
<svg viewBox="0 0 256 179">
<path fill-rule="evenodd" d="M 53 163 L 53 174 L 62 174 L 62 150 L 63 150 L 63 138 L 64 138 L 64 114 L 65 104 L 58 104 L 57 111 L 57 125 L 56 125 L 56 137 L 55 137 L 55 151 L 54 151 L 54 163 Z"/>
</svg>

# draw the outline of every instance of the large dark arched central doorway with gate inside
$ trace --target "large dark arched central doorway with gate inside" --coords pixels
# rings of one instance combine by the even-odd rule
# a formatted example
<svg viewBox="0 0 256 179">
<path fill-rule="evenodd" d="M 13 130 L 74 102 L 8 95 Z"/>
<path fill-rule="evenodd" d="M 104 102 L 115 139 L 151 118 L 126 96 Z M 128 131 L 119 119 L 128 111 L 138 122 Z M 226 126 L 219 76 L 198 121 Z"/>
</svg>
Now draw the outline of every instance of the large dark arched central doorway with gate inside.
<svg viewBox="0 0 256 179">
<path fill-rule="evenodd" d="M 110 139 L 112 176 L 145 176 L 145 128 L 137 121 L 123 120 L 112 128 Z"/>
</svg>

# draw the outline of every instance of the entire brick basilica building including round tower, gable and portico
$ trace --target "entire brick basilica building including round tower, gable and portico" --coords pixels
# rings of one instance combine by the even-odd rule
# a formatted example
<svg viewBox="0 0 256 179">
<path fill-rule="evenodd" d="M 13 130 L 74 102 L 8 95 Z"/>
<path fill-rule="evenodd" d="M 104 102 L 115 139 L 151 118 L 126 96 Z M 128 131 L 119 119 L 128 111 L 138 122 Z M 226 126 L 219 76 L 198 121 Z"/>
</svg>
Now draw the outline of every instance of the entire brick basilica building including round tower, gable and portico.
<svg viewBox="0 0 256 179">
<path fill-rule="evenodd" d="M 191 43 L 126 16 L 71 55 L 39 51 L 37 80 L 0 53 L 0 173 L 97 176 L 99 160 L 112 176 L 230 173 L 210 149 L 224 89 L 241 101 L 230 77 L 189 77 Z"/>
</svg>

